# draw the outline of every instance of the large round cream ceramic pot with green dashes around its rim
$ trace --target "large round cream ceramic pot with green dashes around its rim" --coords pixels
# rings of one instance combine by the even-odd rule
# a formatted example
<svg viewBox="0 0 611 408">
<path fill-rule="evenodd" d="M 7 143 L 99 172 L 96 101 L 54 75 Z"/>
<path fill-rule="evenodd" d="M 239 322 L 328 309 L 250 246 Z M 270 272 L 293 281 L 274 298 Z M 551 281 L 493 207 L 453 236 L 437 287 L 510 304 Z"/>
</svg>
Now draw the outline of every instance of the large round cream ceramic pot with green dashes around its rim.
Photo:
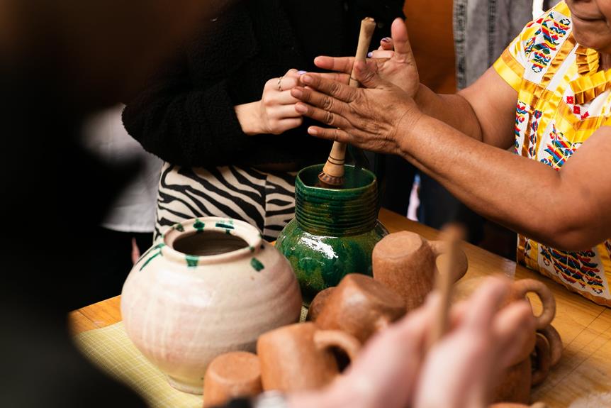
<svg viewBox="0 0 611 408">
<path fill-rule="evenodd" d="M 176 224 L 140 257 L 121 314 L 170 384 L 201 394 L 211 360 L 254 351 L 259 335 L 298 321 L 301 294 L 291 265 L 257 228 L 207 217 Z"/>
</svg>

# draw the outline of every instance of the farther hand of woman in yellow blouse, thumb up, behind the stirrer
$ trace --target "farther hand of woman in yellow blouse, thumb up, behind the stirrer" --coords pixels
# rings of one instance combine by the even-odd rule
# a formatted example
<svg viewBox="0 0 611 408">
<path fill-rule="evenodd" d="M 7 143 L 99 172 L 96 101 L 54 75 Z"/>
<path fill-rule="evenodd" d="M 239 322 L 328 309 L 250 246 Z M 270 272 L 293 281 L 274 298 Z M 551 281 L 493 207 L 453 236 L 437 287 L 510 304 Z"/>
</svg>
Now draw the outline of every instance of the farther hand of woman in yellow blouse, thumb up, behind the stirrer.
<svg viewBox="0 0 611 408">
<path fill-rule="evenodd" d="M 367 66 L 381 79 L 400 87 L 409 97 L 415 99 L 420 89 L 420 77 L 408 38 L 408 30 L 401 18 L 393 21 L 391 34 L 392 38 L 383 38 L 378 50 L 371 53 Z M 340 72 L 340 74 L 323 74 L 323 77 L 347 84 L 354 65 L 354 57 L 316 57 L 314 63 L 323 70 Z"/>
</svg>

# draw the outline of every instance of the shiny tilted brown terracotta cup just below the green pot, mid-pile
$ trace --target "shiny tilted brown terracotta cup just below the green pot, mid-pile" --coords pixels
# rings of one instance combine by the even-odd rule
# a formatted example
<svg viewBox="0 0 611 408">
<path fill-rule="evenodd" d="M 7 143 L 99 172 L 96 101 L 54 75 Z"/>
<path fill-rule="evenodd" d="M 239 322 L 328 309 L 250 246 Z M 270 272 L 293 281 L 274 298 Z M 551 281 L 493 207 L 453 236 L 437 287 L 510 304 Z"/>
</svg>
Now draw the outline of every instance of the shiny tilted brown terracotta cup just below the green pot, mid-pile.
<svg viewBox="0 0 611 408">
<path fill-rule="evenodd" d="M 316 326 L 344 331 L 365 343 L 404 314 L 402 297 L 372 277 L 351 273 L 327 297 Z"/>
</svg>

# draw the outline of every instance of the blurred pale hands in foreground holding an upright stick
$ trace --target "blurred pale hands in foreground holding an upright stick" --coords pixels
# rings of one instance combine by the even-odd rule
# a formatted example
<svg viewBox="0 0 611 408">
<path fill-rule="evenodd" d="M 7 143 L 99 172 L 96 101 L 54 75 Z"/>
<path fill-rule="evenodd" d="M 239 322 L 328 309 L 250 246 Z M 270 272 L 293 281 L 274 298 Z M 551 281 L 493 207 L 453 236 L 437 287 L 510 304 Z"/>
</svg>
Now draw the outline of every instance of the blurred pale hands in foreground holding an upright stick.
<svg viewBox="0 0 611 408">
<path fill-rule="evenodd" d="M 291 396 L 291 408 L 485 407 L 494 378 L 520 353 L 522 333 L 534 331 L 526 301 L 499 310 L 509 292 L 505 278 L 485 282 L 451 309 L 449 333 L 427 353 L 439 307 L 439 297 L 429 297 L 372 338 L 327 390 Z"/>
</svg>

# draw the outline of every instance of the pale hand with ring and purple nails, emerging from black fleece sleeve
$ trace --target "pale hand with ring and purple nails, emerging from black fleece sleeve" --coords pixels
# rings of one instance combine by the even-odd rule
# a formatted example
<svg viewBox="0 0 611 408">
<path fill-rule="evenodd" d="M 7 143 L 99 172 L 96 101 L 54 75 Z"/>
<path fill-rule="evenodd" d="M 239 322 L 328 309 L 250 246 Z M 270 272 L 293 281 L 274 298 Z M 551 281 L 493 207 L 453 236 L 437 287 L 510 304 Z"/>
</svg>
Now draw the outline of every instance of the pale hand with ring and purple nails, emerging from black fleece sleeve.
<svg viewBox="0 0 611 408">
<path fill-rule="evenodd" d="M 291 96 L 300 77 L 297 70 L 288 70 L 280 78 L 269 79 L 263 88 L 261 100 L 235 106 L 242 131 L 249 136 L 279 135 L 301 126 L 303 118 L 295 110 L 297 99 Z"/>
</svg>

